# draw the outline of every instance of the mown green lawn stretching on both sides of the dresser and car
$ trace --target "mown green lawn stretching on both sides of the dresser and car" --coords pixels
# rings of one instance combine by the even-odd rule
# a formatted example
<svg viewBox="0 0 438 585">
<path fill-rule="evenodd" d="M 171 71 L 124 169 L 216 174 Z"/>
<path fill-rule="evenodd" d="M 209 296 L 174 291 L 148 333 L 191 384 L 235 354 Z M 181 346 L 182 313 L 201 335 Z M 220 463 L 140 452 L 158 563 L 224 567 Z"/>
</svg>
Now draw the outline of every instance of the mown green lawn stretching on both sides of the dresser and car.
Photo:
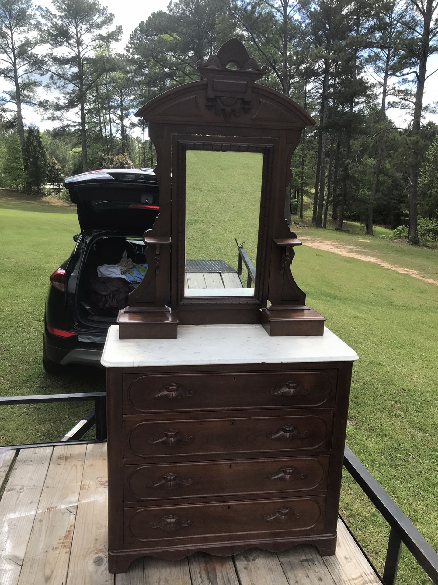
<svg viewBox="0 0 438 585">
<path fill-rule="evenodd" d="M 242 192 L 237 190 L 236 196 Z M 98 370 L 77 367 L 66 376 L 49 377 L 41 365 L 48 277 L 72 249 L 72 236 L 78 231 L 74 209 L 0 195 L 0 214 L 2 394 L 101 390 L 105 382 Z M 412 267 L 426 277 L 437 275 L 436 250 L 364 238 L 360 232 L 296 231 L 312 238 L 369 246 L 370 253 L 392 264 Z M 212 250 L 220 249 L 222 237 L 220 230 L 210 233 Z M 193 247 L 198 244 L 190 243 Z M 307 293 L 308 305 L 321 312 L 326 325 L 360 356 L 353 367 L 347 444 L 437 549 L 438 287 L 377 264 L 308 246 L 296 249 L 292 267 L 298 285 Z M 9 407 L 0 412 L 1 441 L 59 439 L 88 408 Z M 347 474 L 340 509 L 381 568 L 387 526 Z M 430 580 L 404 553 L 398 583 L 423 585 Z"/>
</svg>

